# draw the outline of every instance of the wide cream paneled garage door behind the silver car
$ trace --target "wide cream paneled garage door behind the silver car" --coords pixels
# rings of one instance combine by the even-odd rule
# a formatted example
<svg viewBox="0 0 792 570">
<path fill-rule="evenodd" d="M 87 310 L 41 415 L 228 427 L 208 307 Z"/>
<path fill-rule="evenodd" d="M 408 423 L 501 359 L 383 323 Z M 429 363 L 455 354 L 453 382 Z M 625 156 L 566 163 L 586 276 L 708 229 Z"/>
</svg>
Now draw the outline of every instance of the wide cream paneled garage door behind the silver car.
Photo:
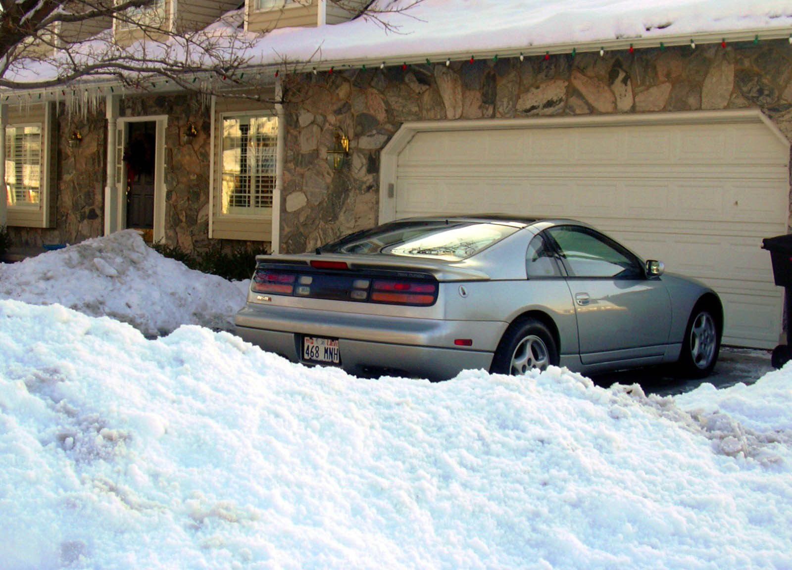
<svg viewBox="0 0 792 570">
<path fill-rule="evenodd" d="M 782 289 L 760 246 L 786 233 L 789 145 L 758 113 L 685 117 L 674 124 L 417 127 L 390 150 L 394 186 L 390 201 L 383 192 L 384 217 L 508 212 L 584 220 L 718 291 L 724 344 L 772 348 Z"/>
</svg>

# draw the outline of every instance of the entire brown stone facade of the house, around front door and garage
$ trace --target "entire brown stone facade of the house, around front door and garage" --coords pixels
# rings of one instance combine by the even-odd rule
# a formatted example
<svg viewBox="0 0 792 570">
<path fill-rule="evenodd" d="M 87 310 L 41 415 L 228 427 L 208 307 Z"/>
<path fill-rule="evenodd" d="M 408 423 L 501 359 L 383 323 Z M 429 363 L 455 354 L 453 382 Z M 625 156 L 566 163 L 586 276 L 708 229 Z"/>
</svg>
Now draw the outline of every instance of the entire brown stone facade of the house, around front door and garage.
<svg viewBox="0 0 792 570">
<path fill-rule="evenodd" d="M 290 75 L 284 78 L 280 249 L 309 251 L 377 222 L 379 154 L 406 121 L 747 107 L 762 109 L 792 139 L 792 46 L 786 40 Z M 60 111 L 57 227 L 11 228 L 17 246 L 74 243 L 102 234 L 105 110 L 99 105 L 87 118 Z M 158 115 L 169 117 L 166 244 L 207 249 L 216 242 L 208 239 L 210 110 L 187 93 L 120 101 L 121 117 Z M 188 121 L 198 135 L 182 144 Z M 71 148 L 67 137 L 74 129 L 83 140 Z M 348 136 L 350 149 L 345 167 L 334 171 L 326 153 L 338 131 Z"/>
</svg>

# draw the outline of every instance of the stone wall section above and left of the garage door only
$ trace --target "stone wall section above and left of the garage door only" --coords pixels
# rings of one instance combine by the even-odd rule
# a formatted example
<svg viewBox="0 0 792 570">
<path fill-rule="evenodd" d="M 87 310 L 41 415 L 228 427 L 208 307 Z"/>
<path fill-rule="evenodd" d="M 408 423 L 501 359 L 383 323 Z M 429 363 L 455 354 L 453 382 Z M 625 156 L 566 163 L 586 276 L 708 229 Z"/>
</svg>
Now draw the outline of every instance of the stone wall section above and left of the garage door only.
<svg viewBox="0 0 792 570">
<path fill-rule="evenodd" d="M 761 108 L 792 139 L 786 41 L 668 47 L 345 70 L 287 79 L 282 250 L 298 253 L 372 226 L 379 151 L 414 120 Z M 326 165 L 333 136 L 349 164 Z"/>
</svg>

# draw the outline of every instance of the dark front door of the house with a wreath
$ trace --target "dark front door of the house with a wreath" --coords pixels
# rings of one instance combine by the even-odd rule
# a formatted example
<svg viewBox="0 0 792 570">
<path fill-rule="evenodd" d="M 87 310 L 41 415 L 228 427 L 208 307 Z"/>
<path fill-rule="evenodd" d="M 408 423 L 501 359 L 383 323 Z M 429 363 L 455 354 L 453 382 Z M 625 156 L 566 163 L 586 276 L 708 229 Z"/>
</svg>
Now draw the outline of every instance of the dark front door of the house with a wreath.
<svg viewBox="0 0 792 570">
<path fill-rule="evenodd" d="M 157 122 L 130 123 L 124 146 L 126 165 L 126 226 L 143 230 L 147 241 L 154 238 L 154 166 Z"/>
</svg>

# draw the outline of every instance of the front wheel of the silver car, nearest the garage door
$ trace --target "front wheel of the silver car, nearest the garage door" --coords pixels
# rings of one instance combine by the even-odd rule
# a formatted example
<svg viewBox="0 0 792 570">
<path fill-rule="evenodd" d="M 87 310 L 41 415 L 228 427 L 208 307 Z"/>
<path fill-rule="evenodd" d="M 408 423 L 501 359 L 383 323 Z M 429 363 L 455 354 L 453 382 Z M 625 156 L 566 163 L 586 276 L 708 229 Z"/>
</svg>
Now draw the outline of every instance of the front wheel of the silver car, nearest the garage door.
<svg viewBox="0 0 792 570">
<path fill-rule="evenodd" d="M 706 378 L 721 349 L 721 324 L 711 304 L 699 303 L 687 320 L 678 368 L 683 378 Z"/>
</svg>

